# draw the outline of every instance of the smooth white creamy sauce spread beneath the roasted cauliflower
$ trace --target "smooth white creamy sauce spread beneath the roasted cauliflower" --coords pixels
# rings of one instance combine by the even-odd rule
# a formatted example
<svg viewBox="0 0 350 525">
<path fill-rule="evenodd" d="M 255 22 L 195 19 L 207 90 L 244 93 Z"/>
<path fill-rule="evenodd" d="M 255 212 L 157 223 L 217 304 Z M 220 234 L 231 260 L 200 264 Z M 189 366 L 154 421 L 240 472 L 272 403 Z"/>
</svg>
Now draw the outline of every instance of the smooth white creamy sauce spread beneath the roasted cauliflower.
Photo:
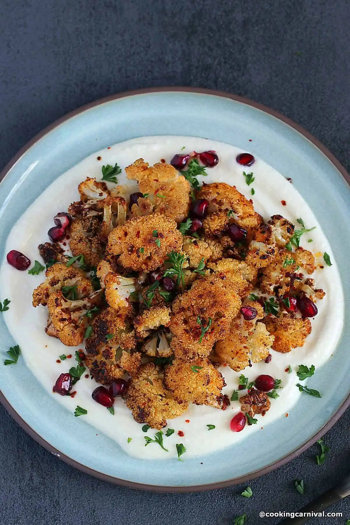
<svg viewBox="0 0 350 525">
<path fill-rule="evenodd" d="M 185 146 L 185 147 L 184 147 Z M 184 147 L 184 149 L 183 149 Z M 168 427 L 173 428 L 175 433 L 170 437 L 164 436 L 164 442 L 169 452 L 166 453 L 157 444 L 145 447 L 144 436 L 154 436 L 155 430 L 150 429 L 147 434 L 141 430 L 142 425 L 136 423 L 132 413 L 126 407 L 121 398 L 115 399 L 112 416 L 109 411 L 91 398 L 91 392 L 97 383 L 82 376 L 81 380 L 73 387 L 77 391 L 74 398 L 60 396 L 52 393 L 52 385 L 62 372 L 68 372 L 71 366 L 76 366 L 74 353 L 77 348 L 67 348 L 58 339 L 48 337 L 44 328 L 47 321 L 47 309 L 39 306 L 31 306 L 31 296 L 34 288 L 45 278 L 44 272 L 38 276 L 28 275 L 27 271 L 21 272 L 11 267 L 6 262 L 6 253 L 11 249 L 22 251 L 34 260 L 40 260 L 37 246 L 49 240 L 48 229 L 54 225 L 52 218 L 57 212 L 66 211 L 69 204 L 79 198 L 77 186 L 87 176 L 101 179 L 102 164 L 117 162 L 122 173 L 118 176 L 119 184 L 132 185 L 135 191 L 136 183 L 126 179 L 124 168 L 136 159 L 143 158 L 150 165 L 165 159 L 169 162 L 175 153 L 190 153 L 193 150 L 200 152 L 215 150 L 219 155 L 219 163 L 213 169 L 207 169 L 208 176 L 198 177 L 200 181 L 226 182 L 236 185 L 248 199 L 251 198 L 251 188 L 255 190 L 252 197 L 254 208 L 265 220 L 271 215 L 281 214 L 294 224 L 296 219 L 302 217 L 306 228 L 316 226 L 309 234 L 304 234 L 301 245 L 310 249 L 316 257 L 316 264 L 324 264 L 321 253 L 327 251 L 330 254 L 333 266 L 325 265 L 324 269 L 317 269 L 312 276 L 316 280 L 317 287 L 323 288 L 326 296 L 317 302 L 319 314 L 311 320 L 312 333 L 307 337 L 303 348 L 296 348 L 290 353 L 282 354 L 271 350 L 272 361 L 270 363 L 256 363 L 247 367 L 243 372 L 234 372 L 228 366 L 221 367 L 220 371 L 225 377 L 227 386 L 222 391 L 231 397 L 232 391 L 237 390 L 238 377 L 241 373 L 253 381 L 259 374 L 269 374 L 281 379 L 283 388 L 278 391 L 279 397 L 271 399 L 271 408 L 262 417 L 258 415 L 258 424 L 248 426 L 242 432 L 235 433 L 230 430 L 231 418 L 240 410 L 238 401 L 231 402 L 226 411 L 210 406 L 190 405 L 188 410 L 180 417 L 168 421 Z M 7 239 L 4 261 L 1 267 L 0 290 L 1 299 L 11 300 L 10 308 L 4 314 L 4 319 L 14 340 L 22 349 L 23 357 L 29 369 L 38 381 L 45 387 L 48 395 L 53 395 L 57 403 L 73 412 L 77 405 L 86 408 L 88 414 L 85 421 L 96 427 L 114 439 L 128 454 L 144 459 L 176 457 L 176 443 L 183 443 L 187 448 L 186 456 L 198 456 L 211 453 L 234 445 L 238 440 L 249 438 L 253 432 L 263 432 L 271 421 L 278 417 L 285 417 L 298 400 L 301 393 L 295 386 L 299 382 L 296 370 L 299 364 L 317 368 L 331 358 L 343 327 L 343 291 L 340 276 L 332 249 L 316 221 L 311 209 L 303 198 L 280 173 L 272 169 L 263 161 L 256 159 L 251 167 L 240 166 L 236 162 L 236 156 L 242 150 L 229 144 L 215 142 L 207 139 L 194 137 L 143 137 L 133 139 L 121 144 L 115 144 L 110 149 L 94 153 L 87 159 L 63 173 L 47 190 L 41 194 L 36 202 L 13 227 Z M 101 156 L 101 161 L 97 157 Z M 247 186 L 243 171 L 253 172 L 255 180 L 252 185 Z M 287 202 L 286 206 L 281 201 Z M 312 238 L 311 243 L 307 240 Z M 20 329 L 19 329 L 20 327 Z M 56 363 L 60 354 L 72 354 L 73 358 Z M 288 374 L 285 369 L 291 365 L 292 373 Z M 86 371 L 88 373 L 88 370 Z M 305 394 L 303 394 L 305 395 Z M 52 417 L 55 417 L 53 414 Z M 186 423 L 186 419 L 189 423 Z M 77 418 L 77 425 L 79 419 Z M 214 430 L 208 430 L 207 425 L 215 425 Z M 177 435 L 178 431 L 184 432 L 184 437 Z M 165 434 L 166 428 L 163 429 Z M 128 443 L 128 438 L 131 442 Z"/>
</svg>

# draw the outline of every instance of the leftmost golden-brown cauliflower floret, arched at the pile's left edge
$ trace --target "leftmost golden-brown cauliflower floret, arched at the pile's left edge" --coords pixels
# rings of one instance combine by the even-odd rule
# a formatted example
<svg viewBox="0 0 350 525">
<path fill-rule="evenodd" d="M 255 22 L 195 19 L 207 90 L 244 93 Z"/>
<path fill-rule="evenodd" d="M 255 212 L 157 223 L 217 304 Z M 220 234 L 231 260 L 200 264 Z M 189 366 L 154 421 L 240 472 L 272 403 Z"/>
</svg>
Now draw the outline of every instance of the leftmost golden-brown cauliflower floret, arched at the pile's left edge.
<svg viewBox="0 0 350 525">
<path fill-rule="evenodd" d="M 45 272 L 46 280 L 33 292 L 33 306 L 39 304 L 46 306 L 51 293 L 61 290 L 63 287 L 76 287 L 77 299 L 88 296 L 93 292 L 91 281 L 85 276 L 80 268 L 68 267 L 65 264 L 50 266 Z"/>
</svg>

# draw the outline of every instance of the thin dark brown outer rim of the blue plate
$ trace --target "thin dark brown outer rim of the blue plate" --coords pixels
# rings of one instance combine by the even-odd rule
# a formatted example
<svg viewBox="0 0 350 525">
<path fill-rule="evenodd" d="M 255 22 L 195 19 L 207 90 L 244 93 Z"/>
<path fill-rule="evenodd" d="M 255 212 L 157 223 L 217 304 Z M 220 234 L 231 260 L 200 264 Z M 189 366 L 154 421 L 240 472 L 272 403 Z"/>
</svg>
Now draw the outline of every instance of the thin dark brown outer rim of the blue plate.
<svg viewBox="0 0 350 525">
<path fill-rule="evenodd" d="M 338 172 L 340 172 L 340 174 L 345 178 L 345 181 L 350 185 L 350 175 L 347 173 L 343 165 L 335 158 L 333 153 L 331 153 L 319 140 L 313 137 L 311 133 L 306 131 L 299 124 L 296 124 L 290 118 L 285 117 L 279 111 L 276 111 L 272 108 L 264 106 L 264 104 L 261 104 L 259 102 L 255 102 L 245 97 L 234 95 L 226 91 L 219 91 L 219 90 L 205 89 L 205 88 L 181 87 L 181 86 L 142 88 L 142 89 L 134 89 L 130 91 L 123 91 L 121 93 L 116 93 L 115 95 L 109 95 L 107 97 L 103 97 L 98 100 L 89 102 L 88 104 L 84 104 L 84 106 L 81 106 L 63 115 L 59 119 L 49 124 L 44 130 L 40 131 L 37 135 L 35 135 L 33 139 L 27 142 L 23 146 L 23 148 L 21 148 L 18 151 L 18 153 L 6 164 L 4 169 L 0 172 L 0 183 L 3 181 L 3 179 L 5 178 L 7 173 L 10 171 L 10 169 L 12 169 L 12 167 L 18 162 L 20 158 L 22 158 L 22 156 L 31 148 L 31 146 L 33 146 L 38 140 L 43 138 L 50 131 L 57 128 L 63 122 L 66 122 L 70 120 L 71 118 L 77 116 L 78 114 L 83 113 L 96 106 L 100 106 L 101 104 L 104 104 L 106 102 L 111 102 L 117 99 L 133 97 L 137 95 L 148 95 L 150 93 L 162 93 L 162 92 L 187 92 L 187 93 L 197 93 L 201 95 L 211 95 L 211 96 L 216 96 L 216 97 L 223 97 L 223 98 L 228 98 L 228 99 L 235 100 L 237 102 L 246 104 L 247 106 L 250 106 L 252 108 L 259 109 L 260 111 L 263 111 L 264 113 L 267 113 L 277 118 L 278 120 L 284 122 L 285 124 L 289 125 L 289 127 L 294 129 L 295 131 L 298 131 L 301 135 L 303 135 L 304 138 L 306 138 L 312 144 L 314 144 L 314 146 L 316 146 L 316 148 L 319 149 L 326 156 L 326 158 L 335 166 Z M 288 463 L 295 457 L 302 454 L 309 447 L 311 447 L 311 445 L 313 445 L 317 441 L 317 439 L 320 439 L 330 428 L 332 428 L 332 426 L 344 414 L 348 406 L 350 406 L 350 395 L 348 395 L 345 398 L 341 406 L 337 409 L 337 411 L 333 414 L 333 416 L 329 419 L 329 421 L 319 430 L 319 432 L 314 434 L 310 439 L 308 439 L 300 447 L 292 450 L 289 454 L 285 455 L 279 460 L 274 461 L 273 463 L 271 463 L 270 465 L 267 465 L 266 467 L 250 472 L 249 474 L 245 476 L 232 478 L 226 481 L 219 481 L 219 482 L 208 483 L 204 485 L 193 485 L 193 486 L 187 486 L 187 487 L 186 486 L 171 487 L 171 486 L 161 486 L 161 485 L 147 485 L 147 484 L 138 483 L 134 481 L 128 481 L 128 480 L 121 479 L 121 478 L 116 478 L 114 476 L 110 476 L 108 474 L 104 474 L 103 472 L 94 470 L 91 467 L 83 465 L 82 463 L 79 463 L 75 459 L 72 459 L 69 456 L 62 454 L 60 450 L 58 450 L 57 448 L 53 447 L 50 443 L 48 443 L 42 436 L 40 436 L 40 434 L 38 434 L 33 428 L 31 428 L 24 421 L 24 419 L 15 411 L 15 409 L 7 401 L 6 397 L 1 392 L 1 390 L 0 390 L 0 403 L 4 406 L 4 408 L 9 413 L 9 415 L 14 419 L 14 421 L 20 427 L 22 427 L 31 438 L 33 438 L 37 443 L 39 443 L 39 445 L 46 448 L 46 450 L 48 450 L 52 455 L 58 457 L 59 459 L 61 459 L 62 461 L 70 465 L 71 467 L 75 467 L 78 470 L 82 471 L 84 474 L 89 474 L 90 476 L 101 479 L 102 481 L 108 481 L 115 485 L 120 485 L 123 487 L 128 487 L 128 488 L 133 488 L 133 489 L 149 490 L 149 491 L 154 491 L 154 492 L 183 492 L 184 493 L 184 492 L 200 492 L 200 491 L 205 491 L 205 490 L 215 490 L 215 489 L 226 488 L 226 487 L 242 484 L 246 481 L 250 481 L 252 479 L 268 474 L 268 472 L 271 472 L 272 470 L 275 470 L 281 467 L 282 465 Z"/>
</svg>

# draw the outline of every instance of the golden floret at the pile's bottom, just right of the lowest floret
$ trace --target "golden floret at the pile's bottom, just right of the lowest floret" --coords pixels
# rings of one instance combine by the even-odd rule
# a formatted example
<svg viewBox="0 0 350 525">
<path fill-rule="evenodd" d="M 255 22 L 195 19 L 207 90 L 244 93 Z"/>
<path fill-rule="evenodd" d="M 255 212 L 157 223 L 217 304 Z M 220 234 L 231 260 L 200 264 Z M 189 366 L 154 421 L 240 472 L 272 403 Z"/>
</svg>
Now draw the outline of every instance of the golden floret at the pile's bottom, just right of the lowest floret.
<svg viewBox="0 0 350 525">
<path fill-rule="evenodd" d="M 224 377 L 206 358 L 175 359 L 164 370 L 164 384 L 177 401 L 221 408 Z"/>
</svg>

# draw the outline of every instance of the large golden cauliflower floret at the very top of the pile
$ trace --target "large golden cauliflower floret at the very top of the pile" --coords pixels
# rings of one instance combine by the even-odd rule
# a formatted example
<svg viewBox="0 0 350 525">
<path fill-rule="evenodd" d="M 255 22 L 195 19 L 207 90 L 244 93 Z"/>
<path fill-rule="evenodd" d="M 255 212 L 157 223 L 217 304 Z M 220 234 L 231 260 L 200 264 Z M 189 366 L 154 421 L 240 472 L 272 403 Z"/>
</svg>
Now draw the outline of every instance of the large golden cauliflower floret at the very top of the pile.
<svg viewBox="0 0 350 525">
<path fill-rule="evenodd" d="M 140 191 L 149 194 L 154 211 L 181 223 L 188 215 L 191 188 L 183 175 L 171 164 L 159 162 L 150 167 L 138 159 L 125 168 L 126 175 L 139 183 Z M 137 202 L 139 204 L 139 202 Z"/>
</svg>

